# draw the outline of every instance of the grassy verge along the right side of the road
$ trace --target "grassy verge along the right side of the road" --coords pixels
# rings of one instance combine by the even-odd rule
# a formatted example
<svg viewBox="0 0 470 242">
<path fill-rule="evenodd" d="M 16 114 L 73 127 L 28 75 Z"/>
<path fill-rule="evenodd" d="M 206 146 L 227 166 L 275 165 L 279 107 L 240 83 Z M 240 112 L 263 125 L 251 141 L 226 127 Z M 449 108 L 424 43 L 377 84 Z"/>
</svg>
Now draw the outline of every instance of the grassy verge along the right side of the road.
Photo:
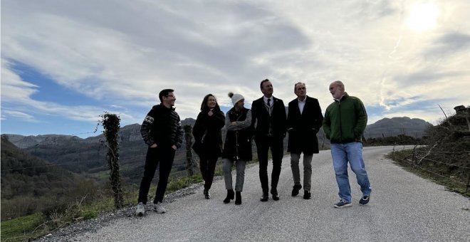
<svg viewBox="0 0 470 242">
<path fill-rule="evenodd" d="M 459 179 L 447 172 L 447 169 L 443 169 L 439 164 L 414 164 L 407 160 L 408 157 L 412 157 L 412 149 L 403 149 L 387 154 L 385 157 L 392 159 L 396 164 L 399 164 L 404 169 L 414 174 L 419 175 L 425 179 L 432 180 L 437 184 L 446 186 L 449 191 L 462 194 L 466 197 L 470 197 L 470 189 L 467 189 L 467 179 Z"/>
</svg>

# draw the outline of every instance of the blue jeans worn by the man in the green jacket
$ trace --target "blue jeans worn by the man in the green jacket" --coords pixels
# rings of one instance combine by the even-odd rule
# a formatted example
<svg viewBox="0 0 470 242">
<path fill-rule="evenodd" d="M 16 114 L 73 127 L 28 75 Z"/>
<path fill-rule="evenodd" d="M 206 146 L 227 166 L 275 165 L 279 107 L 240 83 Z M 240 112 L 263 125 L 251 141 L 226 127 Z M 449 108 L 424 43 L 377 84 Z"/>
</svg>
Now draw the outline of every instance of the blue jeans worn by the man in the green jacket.
<svg viewBox="0 0 470 242">
<path fill-rule="evenodd" d="M 333 167 L 335 168 L 336 182 L 338 182 L 340 189 L 340 192 L 338 192 L 340 198 L 346 202 L 351 202 L 348 162 L 352 172 L 356 174 L 357 184 L 360 186 L 362 196 L 370 196 L 372 187 L 365 171 L 364 159 L 362 159 L 362 143 L 331 144 L 331 157 L 333 157 Z"/>
</svg>

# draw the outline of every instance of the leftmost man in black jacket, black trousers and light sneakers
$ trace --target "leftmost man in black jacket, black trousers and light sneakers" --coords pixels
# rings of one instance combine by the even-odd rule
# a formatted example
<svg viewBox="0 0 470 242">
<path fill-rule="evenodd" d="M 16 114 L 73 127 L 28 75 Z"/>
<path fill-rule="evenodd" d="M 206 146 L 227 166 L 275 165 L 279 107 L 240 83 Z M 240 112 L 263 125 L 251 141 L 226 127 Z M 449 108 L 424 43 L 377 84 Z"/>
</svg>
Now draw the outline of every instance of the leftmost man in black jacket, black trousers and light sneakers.
<svg viewBox="0 0 470 242">
<path fill-rule="evenodd" d="M 179 115 L 174 112 L 173 106 L 176 97 L 173 92 L 172 89 L 164 89 L 159 93 L 160 105 L 152 107 L 140 127 L 140 134 L 149 147 L 145 158 L 144 176 L 140 182 L 139 204 L 137 204 L 135 211 L 135 214 L 139 216 L 145 214 L 147 194 L 158 163 L 160 163 L 160 177 L 153 201 L 153 210 L 158 214 L 165 212 L 162 206 L 164 191 L 167 189 L 174 153 L 177 148 L 181 147 L 183 140 Z"/>
</svg>

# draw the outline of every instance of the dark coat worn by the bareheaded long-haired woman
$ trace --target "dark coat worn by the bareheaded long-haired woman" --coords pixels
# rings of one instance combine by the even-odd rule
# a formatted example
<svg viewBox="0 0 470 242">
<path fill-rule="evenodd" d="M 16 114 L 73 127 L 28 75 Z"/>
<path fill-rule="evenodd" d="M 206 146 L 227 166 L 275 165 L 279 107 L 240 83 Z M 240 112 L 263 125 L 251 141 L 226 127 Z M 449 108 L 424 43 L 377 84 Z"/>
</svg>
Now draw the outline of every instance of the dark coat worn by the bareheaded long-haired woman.
<svg viewBox="0 0 470 242">
<path fill-rule="evenodd" d="M 221 110 L 213 110 L 214 114 L 209 116 L 209 111 L 199 112 L 196 123 L 192 128 L 194 144 L 192 149 L 199 157 L 220 157 L 222 154 L 222 132 L 225 125 L 225 115 Z"/>
</svg>

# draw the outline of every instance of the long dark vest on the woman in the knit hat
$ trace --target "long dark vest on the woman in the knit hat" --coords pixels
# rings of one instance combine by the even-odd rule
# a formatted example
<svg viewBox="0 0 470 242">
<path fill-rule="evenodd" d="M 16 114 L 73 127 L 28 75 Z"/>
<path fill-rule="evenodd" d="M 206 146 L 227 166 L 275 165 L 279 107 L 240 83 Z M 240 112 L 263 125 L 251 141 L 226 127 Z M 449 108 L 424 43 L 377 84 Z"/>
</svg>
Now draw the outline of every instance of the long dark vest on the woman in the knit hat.
<svg viewBox="0 0 470 242">
<path fill-rule="evenodd" d="M 236 112 L 233 107 L 226 114 L 226 125 L 231 122 L 248 122 L 246 128 L 241 130 L 228 130 L 225 137 L 224 152 L 222 152 L 222 158 L 244 161 L 251 161 L 251 137 L 253 132 L 251 128 L 251 110 L 244 108 L 241 112 Z"/>
</svg>

